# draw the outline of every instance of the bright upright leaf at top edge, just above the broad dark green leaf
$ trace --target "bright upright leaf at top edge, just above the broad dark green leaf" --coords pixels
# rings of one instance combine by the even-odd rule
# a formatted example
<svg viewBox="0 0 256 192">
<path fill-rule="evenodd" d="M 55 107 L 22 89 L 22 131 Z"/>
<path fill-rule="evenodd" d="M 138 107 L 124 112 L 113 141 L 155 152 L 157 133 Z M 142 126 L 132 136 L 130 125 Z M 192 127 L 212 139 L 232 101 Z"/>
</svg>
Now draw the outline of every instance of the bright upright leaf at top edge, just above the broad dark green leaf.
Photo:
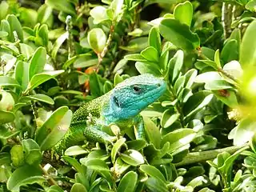
<svg viewBox="0 0 256 192">
<path fill-rule="evenodd" d="M 174 8 L 174 18 L 179 22 L 186 24 L 187 26 L 191 25 L 193 17 L 193 6 L 190 2 L 186 1 L 178 4 Z"/>
</svg>

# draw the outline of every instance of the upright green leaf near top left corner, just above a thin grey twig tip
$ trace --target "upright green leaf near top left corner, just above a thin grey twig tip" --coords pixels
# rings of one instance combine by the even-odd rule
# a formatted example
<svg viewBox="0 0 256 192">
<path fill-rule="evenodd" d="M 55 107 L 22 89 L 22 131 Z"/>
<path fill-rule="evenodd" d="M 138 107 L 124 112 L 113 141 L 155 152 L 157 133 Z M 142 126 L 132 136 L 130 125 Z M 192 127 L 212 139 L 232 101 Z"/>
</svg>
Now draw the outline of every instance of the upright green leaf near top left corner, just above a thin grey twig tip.
<svg viewBox="0 0 256 192">
<path fill-rule="evenodd" d="M 16 31 L 17 35 L 18 35 L 18 39 L 21 40 L 21 42 L 23 42 L 23 30 L 22 30 L 22 25 L 21 23 L 18 21 L 18 18 L 14 15 L 14 14 L 9 14 L 6 18 L 6 20 L 9 22 L 10 24 L 10 33 L 12 35 L 14 35 L 14 31 Z"/>
</svg>

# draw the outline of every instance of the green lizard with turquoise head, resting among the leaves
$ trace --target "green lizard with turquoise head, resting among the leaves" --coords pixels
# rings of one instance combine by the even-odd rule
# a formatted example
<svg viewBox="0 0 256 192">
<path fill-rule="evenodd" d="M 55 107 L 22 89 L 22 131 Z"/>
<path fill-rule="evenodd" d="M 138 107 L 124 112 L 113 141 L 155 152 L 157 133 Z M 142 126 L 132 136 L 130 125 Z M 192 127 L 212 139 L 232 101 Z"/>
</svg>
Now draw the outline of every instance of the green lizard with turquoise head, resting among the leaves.
<svg viewBox="0 0 256 192">
<path fill-rule="evenodd" d="M 151 74 L 141 74 L 120 82 L 113 90 L 86 102 L 74 112 L 70 129 L 54 146 L 58 153 L 84 140 L 108 143 L 115 137 L 103 132 L 111 123 L 121 130 L 135 127 L 135 137 L 144 138 L 144 122 L 139 114 L 166 91 L 166 82 Z"/>
</svg>

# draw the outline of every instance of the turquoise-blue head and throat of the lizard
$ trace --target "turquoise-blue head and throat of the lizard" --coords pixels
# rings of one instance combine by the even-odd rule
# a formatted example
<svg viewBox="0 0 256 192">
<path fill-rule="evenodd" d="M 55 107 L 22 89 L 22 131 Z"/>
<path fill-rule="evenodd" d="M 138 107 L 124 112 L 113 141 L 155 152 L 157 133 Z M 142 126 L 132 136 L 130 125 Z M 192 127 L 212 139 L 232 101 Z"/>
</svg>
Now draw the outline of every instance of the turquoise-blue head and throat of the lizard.
<svg viewBox="0 0 256 192">
<path fill-rule="evenodd" d="M 166 91 L 166 82 L 152 74 L 127 78 L 110 92 L 110 102 L 102 111 L 107 122 L 133 118 Z"/>
</svg>

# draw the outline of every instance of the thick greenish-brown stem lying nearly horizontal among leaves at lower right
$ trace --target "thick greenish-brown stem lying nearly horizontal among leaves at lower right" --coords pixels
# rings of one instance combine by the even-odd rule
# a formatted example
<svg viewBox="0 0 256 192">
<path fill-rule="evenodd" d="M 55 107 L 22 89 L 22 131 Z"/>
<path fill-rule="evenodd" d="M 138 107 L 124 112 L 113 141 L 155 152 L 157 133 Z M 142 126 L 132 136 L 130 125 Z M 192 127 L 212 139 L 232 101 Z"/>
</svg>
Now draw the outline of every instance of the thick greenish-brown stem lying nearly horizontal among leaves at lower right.
<svg viewBox="0 0 256 192">
<path fill-rule="evenodd" d="M 216 158 L 218 154 L 221 154 L 222 152 L 225 151 L 228 152 L 229 154 L 234 154 L 234 152 L 242 149 L 245 146 L 249 147 L 249 143 L 246 143 L 243 146 L 229 146 L 217 150 L 206 150 L 202 152 L 189 153 L 186 155 L 182 162 L 174 163 L 174 166 L 186 166 L 192 163 L 206 162 L 207 160 Z"/>
</svg>

